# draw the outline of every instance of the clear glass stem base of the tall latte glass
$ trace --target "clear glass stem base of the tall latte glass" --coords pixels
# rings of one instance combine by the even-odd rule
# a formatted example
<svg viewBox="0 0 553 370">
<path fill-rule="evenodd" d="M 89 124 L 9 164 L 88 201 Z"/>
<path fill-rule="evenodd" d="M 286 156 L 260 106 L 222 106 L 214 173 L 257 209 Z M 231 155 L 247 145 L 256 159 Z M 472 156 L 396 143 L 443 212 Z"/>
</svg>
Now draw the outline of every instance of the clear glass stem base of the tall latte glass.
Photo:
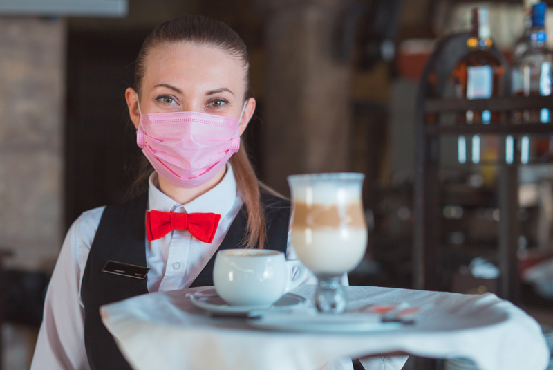
<svg viewBox="0 0 553 370">
<path fill-rule="evenodd" d="M 340 284 L 341 275 L 315 274 L 319 286 L 315 291 L 315 306 L 319 312 L 342 313 L 346 311 L 346 292 Z"/>
</svg>

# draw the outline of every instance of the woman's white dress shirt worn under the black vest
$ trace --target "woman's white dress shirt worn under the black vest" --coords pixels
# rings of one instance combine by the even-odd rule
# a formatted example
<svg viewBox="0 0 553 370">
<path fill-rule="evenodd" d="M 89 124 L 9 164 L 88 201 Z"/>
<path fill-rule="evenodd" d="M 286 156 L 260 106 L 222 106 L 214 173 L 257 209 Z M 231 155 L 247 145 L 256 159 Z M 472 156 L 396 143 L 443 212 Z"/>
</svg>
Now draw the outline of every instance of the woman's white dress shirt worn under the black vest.
<svg viewBox="0 0 553 370">
<path fill-rule="evenodd" d="M 221 214 L 212 243 L 198 241 L 187 231 L 169 232 L 155 241 L 146 241 L 149 292 L 188 288 L 223 242 L 230 225 L 243 205 L 232 167 L 220 183 L 185 205 L 176 203 L 158 189 L 156 172 L 149 178 L 148 210 L 165 212 L 213 212 Z M 89 370 L 84 348 L 84 305 L 81 283 L 96 230 L 105 207 L 81 214 L 69 228 L 59 252 L 44 303 L 31 370 Z M 288 248 L 288 258 L 294 258 Z M 305 283 L 314 284 L 314 277 Z M 347 277 L 344 281 L 347 284 Z M 350 360 L 329 364 L 325 369 L 353 369 Z"/>
</svg>

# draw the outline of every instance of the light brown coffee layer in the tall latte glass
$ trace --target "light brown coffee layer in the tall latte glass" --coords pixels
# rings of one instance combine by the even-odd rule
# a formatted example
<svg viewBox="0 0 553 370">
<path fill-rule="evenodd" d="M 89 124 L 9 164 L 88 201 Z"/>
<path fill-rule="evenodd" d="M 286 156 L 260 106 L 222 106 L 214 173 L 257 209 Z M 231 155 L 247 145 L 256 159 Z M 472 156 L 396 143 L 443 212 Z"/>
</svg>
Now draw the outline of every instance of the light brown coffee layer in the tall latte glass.
<svg viewBox="0 0 553 370">
<path fill-rule="evenodd" d="M 361 203 L 347 203 L 342 207 L 324 203 L 308 205 L 294 202 L 292 228 L 365 228 L 365 216 Z"/>
</svg>

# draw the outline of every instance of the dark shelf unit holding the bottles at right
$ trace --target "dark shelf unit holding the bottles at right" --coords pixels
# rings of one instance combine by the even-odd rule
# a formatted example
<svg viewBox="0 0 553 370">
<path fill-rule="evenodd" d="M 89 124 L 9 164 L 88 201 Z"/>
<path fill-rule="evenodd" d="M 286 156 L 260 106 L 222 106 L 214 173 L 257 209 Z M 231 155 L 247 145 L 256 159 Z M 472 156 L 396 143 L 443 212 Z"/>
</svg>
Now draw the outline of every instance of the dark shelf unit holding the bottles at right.
<svg viewBox="0 0 553 370">
<path fill-rule="evenodd" d="M 500 210 L 498 256 L 500 269 L 500 296 L 518 303 L 518 165 L 505 161 L 505 137 L 523 135 L 552 136 L 553 122 L 549 124 L 511 124 L 509 111 L 515 109 L 542 109 L 553 111 L 553 96 L 509 97 L 510 68 L 505 57 L 491 49 L 505 68 L 503 96 L 482 100 L 444 98 L 445 86 L 458 60 L 469 52 L 468 33 L 452 35 L 438 43 L 422 75 L 415 122 L 415 211 L 413 224 L 413 288 L 440 289 L 440 138 L 452 135 L 497 134 L 500 136 L 498 163 L 498 208 Z M 432 84 L 429 82 L 432 81 Z M 463 126 L 440 125 L 427 122 L 427 115 L 442 115 L 468 110 L 503 112 L 499 124 L 472 124 Z"/>
</svg>

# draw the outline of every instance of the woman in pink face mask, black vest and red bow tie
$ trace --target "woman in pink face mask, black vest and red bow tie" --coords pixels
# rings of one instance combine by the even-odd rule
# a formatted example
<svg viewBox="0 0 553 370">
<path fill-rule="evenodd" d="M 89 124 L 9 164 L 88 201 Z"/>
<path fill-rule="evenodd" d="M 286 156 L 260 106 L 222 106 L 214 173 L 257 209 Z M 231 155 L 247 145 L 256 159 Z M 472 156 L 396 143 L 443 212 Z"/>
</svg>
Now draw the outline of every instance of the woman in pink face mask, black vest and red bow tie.
<svg viewBox="0 0 553 370">
<path fill-rule="evenodd" d="M 240 142 L 256 104 L 249 83 L 245 44 L 221 22 L 179 17 L 147 37 L 125 96 L 155 171 L 138 198 L 71 226 L 31 369 L 130 369 L 100 320 L 102 304 L 212 285 L 218 249 L 286 252 L 290 204 L 259 183 Z M 178 214 L 196 217 L 199 231 L 173 225 Z M 145 278 L 115 275 L 123 264 Z"/>
</svg>

